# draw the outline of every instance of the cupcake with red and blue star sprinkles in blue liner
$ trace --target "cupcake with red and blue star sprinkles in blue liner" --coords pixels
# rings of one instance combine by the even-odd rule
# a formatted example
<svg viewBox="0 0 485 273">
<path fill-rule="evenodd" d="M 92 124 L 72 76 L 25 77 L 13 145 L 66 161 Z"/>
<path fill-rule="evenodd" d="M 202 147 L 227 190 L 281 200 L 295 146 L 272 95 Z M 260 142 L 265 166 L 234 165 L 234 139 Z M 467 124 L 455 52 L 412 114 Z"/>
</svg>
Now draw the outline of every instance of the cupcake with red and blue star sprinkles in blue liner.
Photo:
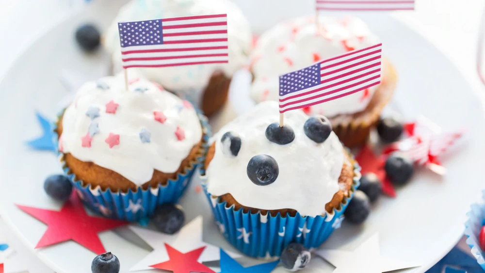
<svg viewBox="0 0 485 273">
<path fill-rule="evenodd" d="M 81 199 L 107 217 L 137 221 L 175 203 L 205 155 L 206 118 L 139 79 L 81 86 L 55 132 L 63 169 Z"/>
</svg>

